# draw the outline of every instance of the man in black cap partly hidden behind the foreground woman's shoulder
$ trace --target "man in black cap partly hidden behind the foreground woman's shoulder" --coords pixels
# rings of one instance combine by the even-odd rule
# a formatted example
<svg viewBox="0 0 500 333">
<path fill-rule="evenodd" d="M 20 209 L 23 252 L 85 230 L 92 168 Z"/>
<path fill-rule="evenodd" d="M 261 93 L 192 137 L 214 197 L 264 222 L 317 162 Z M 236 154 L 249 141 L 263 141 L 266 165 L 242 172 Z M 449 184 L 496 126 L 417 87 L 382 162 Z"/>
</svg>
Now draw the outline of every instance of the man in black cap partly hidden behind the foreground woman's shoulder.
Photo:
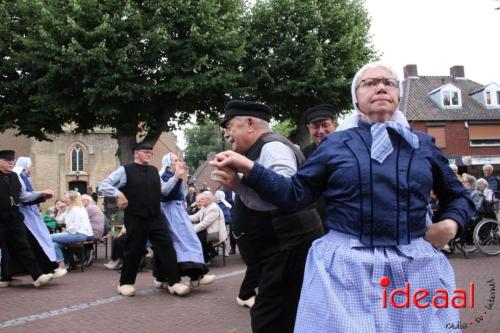
<svg viewBox="0 0 500 333">
<path fill-rule="evenodd" d="M 304 148 L 306 158 L 318 148 L 319 143 L 328 133 L 335 131 L 335 109 L 330 104 L 320 104 L 306 110 L 306 126 L 313 142 Z"/>
</svg>

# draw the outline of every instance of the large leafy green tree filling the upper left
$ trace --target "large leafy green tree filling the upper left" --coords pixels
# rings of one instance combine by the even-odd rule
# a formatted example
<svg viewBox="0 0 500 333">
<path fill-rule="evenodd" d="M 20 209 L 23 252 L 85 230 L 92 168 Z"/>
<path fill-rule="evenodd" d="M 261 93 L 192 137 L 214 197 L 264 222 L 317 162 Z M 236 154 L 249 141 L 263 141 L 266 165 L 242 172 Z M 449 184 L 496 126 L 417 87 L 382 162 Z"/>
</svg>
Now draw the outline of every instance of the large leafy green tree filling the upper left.
<svg viewBox="0 0 500 333">
<path fill-rule="evenodd" d="M 243 0 L 0 0 L 0 130 L 138 134 L 213 116 L 241 75 Z"/>
</svg>

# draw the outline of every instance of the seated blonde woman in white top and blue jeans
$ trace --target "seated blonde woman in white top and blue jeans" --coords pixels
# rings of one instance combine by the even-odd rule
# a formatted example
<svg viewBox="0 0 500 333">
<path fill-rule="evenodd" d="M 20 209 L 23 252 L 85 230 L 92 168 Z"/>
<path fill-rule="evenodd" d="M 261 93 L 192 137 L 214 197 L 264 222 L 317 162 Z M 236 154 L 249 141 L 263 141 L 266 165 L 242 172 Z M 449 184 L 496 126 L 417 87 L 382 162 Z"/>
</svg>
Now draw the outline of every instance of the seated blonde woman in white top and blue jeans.
<svg viewBox="0 0 500 333">
<path fill-rule="evenodd" d="M 69 191 L 64 196 L 64 202 L 66 209 L 64 212 L 58 211 L 58 215 L 56 216 L 57 222 L 64 224 L 63 231 L 51 234 L 56 250 L 56 259 L 59 264 L 59 268 L 56 269 L 54 274 L 58 271 L 61 271 L 60 274 L 67 272 L 65 261 L 69 262 L 69 260 L 67 258 L 65 260 L 64 257 L 64 248 L 66 245 L 89 241 L 94 237 L 89 215 L 83 207 L 80 193 Z"/>
</svg>

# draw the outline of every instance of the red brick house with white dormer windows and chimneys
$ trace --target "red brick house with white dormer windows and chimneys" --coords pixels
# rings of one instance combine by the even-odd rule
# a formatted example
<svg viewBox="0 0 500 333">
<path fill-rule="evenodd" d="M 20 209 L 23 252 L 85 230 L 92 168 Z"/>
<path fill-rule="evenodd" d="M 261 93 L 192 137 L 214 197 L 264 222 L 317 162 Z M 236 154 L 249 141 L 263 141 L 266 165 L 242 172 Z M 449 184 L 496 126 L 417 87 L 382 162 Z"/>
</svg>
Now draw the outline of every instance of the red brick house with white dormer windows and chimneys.
<svg viewBox="0 0 500 333">
<path fill-rule="evenodd" d="M 412 128 L 436 139 L 459 173 L 482 176 L 492 164 L 500 173 L 500 86 L 465 78 L 463 66 L 449 76 L 420 76 L 417 65 L 404 67 L 400 109 Z"/>
</svg>

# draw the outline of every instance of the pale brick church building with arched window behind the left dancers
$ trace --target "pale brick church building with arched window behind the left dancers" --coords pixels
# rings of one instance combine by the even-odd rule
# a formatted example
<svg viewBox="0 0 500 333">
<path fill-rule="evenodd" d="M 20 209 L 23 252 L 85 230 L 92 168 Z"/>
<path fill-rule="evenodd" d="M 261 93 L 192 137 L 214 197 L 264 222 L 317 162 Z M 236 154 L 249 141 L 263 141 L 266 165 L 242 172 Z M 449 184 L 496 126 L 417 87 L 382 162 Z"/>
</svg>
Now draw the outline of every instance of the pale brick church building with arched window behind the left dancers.
<svg viewBox="0 0 500 333">
<path fill-rule="evenodd" d="M 55 198 L 69 189 L 80 192 L 88 186 L 96 189 L 120 165 L 116 156 L 118 144 L 111 138 L 110 129 L 97 129 L 90 135 L 53 135 L 50 136 L 53 141 L 38 141 L 15 133 L 13 130 L 0 133 L 0 149 L 14 149 L 17 156 L 29 156 L 33 161 L 35 189 L 52 189 Z M 152 164 L 160 168 L 161 159 L 168 152 L 182 157 L 177 137 L 165 132 L 154 146 Z"/>
</svg>

